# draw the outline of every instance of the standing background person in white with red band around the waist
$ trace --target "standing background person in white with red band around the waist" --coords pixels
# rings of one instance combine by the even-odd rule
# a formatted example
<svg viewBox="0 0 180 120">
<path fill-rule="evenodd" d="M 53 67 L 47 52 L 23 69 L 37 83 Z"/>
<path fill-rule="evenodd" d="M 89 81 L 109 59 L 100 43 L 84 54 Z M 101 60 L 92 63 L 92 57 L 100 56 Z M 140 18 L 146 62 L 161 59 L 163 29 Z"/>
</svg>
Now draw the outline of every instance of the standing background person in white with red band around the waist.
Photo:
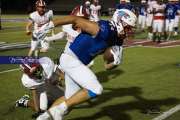
<svg viewBox="0 0 180 120">
<path fill-rule="evenodd" d="M 161 42 L 162 36 L 164 35 L 164 11 L 165 4 L 163 4 L 162 0 L 158 0 L 157 4 L 153 6 L 153 41 L 155 42 L 158 39 L 158 43 Z"/>
</svg>

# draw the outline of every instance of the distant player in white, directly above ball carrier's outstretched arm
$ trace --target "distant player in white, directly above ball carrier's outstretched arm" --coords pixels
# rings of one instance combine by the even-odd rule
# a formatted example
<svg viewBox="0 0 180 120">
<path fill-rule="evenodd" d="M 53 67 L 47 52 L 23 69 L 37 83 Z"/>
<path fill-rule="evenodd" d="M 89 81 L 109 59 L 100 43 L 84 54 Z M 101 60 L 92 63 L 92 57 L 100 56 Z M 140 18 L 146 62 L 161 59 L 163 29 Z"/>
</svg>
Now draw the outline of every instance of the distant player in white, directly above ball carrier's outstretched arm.
<svg viewBox="0 0 180 120">
<path fill-rule="evenodd" d="M 100 10 L 101 10 L 101 5 L 99 5 L 99 0 L 93 0 L 93 4 L 90 6 L 90 20 L 91 21 L 99 21 L 100 17 Z"/>
</svg>

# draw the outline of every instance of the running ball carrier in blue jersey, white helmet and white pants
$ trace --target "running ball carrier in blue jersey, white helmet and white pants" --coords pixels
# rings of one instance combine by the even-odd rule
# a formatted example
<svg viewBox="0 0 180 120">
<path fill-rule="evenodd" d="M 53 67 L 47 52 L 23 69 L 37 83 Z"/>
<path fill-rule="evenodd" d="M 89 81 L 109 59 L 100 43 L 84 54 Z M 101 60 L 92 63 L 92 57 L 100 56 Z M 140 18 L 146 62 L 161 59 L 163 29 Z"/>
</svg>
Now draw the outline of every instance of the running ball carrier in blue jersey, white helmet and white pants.
<svg viewBox="0 0 180 120">
<path fill-rule="evenodd" d="M 49 28 L 73 24 L 82 32 L 69 49 L 60 56 L 61 69 L 65 74 L 65 95 L 37 120 L 62 120 L 67 110 L 102 94 L 103 87 L 96 75 L 86 65 L 97 55 L 114 45 L 122 45 L 121 35 L 135 26 L 137 17 L 127 9 L 117 10 L 109 21 L 91 22 L 77 16 L 66 16 L 55 20 Z"/>
</svg>

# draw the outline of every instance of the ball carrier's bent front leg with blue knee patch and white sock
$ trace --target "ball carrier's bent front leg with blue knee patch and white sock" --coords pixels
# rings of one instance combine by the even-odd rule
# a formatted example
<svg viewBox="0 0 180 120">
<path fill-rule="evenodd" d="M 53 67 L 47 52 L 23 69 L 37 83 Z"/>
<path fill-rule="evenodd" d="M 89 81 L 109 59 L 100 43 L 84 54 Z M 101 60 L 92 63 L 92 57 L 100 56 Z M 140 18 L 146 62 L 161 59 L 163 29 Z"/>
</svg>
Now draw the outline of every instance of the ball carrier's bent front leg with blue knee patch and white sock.
<svg viewBox="0 0 180 120">
<path fill-rule="evenodd" d="M 69 98 L 61 104 L 49 109 L 49 112 L 55 119 L 56 117 L 60 119 L 69 107 L 85 102 L 86 100 L 94 98 L 102 93 L 101 84 L 97 81 L 96 76 L 87 66 L 75 58 L 68 57 L 68 55 L 62 56 L 64 57 L 64 60 L 60 60 L 61 67 L 65 73 L 68 73 L 73 81 L 83 89 L 72 94 L 72 96 L 68 96 Z M 48 114 L 45 113 L 42 116 L 45 118 Z M 41 116 L 39 118 L 41 118 Z"/>
</svg>

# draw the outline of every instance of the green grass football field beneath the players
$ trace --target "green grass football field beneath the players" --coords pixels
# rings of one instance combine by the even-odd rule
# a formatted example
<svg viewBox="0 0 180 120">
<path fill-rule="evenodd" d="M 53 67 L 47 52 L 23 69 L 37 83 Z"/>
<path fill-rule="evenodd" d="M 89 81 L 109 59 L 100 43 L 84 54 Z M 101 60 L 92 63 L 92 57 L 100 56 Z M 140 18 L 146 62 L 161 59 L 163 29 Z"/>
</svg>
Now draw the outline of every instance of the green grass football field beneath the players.
<svg viewBox="0 0 180 120">
<path fill-rule="evenodd" d="M 22 16 L 4 16 L 5 18 L 25 18 Z M 3 23 L 6 27 L 23 28 L 25 23 Z M 138 34 L 136 38 L 146 38 Z M 4 29 L 0 31 L 0 42 L 28 42 L 23 29 Z M 59 57 L 64 41 L 51 44 L 47 54 L 51 58 Z M 102 56 L 95 59 L 92 68 L 104 92 L 91 103 L 76 106 L 66 120 L 151 120 L 159 114 L 145 114 L 151 107 L 161 112 L 180 104 L 180 47 L 144 48 L 133 47 L 124 50 L 123 64 L 117 69 L 106 71 Z M 27 55 L 28 49 L 1 51 L 3 55 Z M 0 65 L 0 72 L 18 68 L 18 65 Z M 23 88 L 18 70 L 0 73 L 0 120 L 31 120 L 33 111 L 27 108 L 13 108 L 14 102 L 29 93 Z M 177 115 L 176 115 L 177 114 Z M 179 120 L 179 112 L 170 120 Z M 167 119 L 168 120 L 168 119 Z"/>
</svg>

